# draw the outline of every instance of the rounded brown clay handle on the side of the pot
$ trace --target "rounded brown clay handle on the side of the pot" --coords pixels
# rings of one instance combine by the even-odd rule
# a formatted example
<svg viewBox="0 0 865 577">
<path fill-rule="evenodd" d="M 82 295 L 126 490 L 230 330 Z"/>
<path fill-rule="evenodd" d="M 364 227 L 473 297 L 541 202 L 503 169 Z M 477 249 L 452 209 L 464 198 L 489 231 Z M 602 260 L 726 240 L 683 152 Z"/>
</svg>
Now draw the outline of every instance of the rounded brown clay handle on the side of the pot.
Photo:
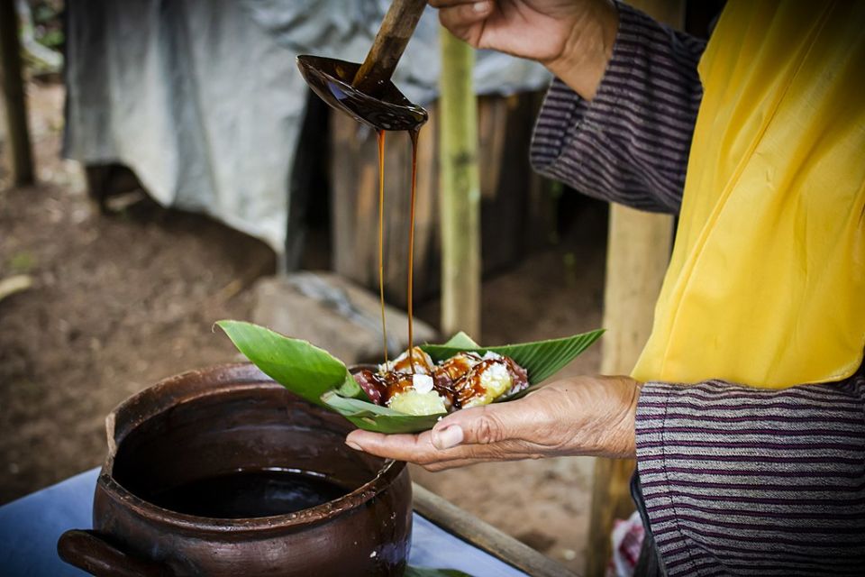
<svg viewBox="0 0 865 577">
<path fill-rule="evenodd" d="M 152 561 L 123 553 L 96 531 L 70 529 L 57 542 L 60 559 L 96 577 L 171 577 L 172 572 Z"/>
</svg>

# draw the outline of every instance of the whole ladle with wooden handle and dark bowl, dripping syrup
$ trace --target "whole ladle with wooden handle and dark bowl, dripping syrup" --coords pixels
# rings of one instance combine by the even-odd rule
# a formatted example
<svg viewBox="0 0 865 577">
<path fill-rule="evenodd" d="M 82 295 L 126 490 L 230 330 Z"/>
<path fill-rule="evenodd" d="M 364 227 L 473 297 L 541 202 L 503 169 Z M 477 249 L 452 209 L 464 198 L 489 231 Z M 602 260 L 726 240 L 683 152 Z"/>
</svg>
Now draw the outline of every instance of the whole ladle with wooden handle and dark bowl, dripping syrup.
<svg viewBox="0 0 865 577">
<path fill-rule="evenodd" d="M 326 103 L 377 130 L 417 130 L 428 119 L 390 78 L 423 14 L 426 0 L 394 0 L 363 64 L 302 55 L 297 67 Z"/>
</svg>

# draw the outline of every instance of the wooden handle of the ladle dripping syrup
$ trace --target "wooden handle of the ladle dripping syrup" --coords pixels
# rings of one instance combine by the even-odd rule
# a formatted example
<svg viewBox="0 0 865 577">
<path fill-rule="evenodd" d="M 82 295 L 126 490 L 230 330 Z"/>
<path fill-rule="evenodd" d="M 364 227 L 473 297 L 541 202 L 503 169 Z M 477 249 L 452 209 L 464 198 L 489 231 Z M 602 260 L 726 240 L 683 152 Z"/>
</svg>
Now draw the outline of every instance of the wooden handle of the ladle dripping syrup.
<svg viewBox="0 0 865 577">
<path fill-rule="evenodd" d="M 394 0 L 372 41 L 367 59 L 354 75 L 352 86 L 369 96 L 377 96 L 380 87 L 394 75 L 396 63 L 412 37 L 423 14 L 426 0 Z"/>
</svg>

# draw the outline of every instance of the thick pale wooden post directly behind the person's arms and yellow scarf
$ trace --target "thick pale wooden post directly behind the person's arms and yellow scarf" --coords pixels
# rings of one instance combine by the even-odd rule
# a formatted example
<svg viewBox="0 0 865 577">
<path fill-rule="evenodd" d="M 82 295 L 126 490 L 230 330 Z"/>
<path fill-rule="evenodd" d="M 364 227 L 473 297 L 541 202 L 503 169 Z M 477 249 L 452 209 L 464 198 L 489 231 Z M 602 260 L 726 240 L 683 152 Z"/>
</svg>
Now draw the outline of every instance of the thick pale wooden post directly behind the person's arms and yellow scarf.
<svg viewBox="0 0 865 577">
<path fill-rule="evenodd" d="M 683 0 L 636 0 L 632 5 L 660 22 L 681 28 Z M 610 207 L 606 255 L 601 372 L 629 374 L 651 334 L 655 301 L 669 263 L 673 219 L 626 206 Z M 632 460 L 596 459 L 589 514 L 586 574 L 605 574 L 616 518 L 633 513 Z"/>
</svg>

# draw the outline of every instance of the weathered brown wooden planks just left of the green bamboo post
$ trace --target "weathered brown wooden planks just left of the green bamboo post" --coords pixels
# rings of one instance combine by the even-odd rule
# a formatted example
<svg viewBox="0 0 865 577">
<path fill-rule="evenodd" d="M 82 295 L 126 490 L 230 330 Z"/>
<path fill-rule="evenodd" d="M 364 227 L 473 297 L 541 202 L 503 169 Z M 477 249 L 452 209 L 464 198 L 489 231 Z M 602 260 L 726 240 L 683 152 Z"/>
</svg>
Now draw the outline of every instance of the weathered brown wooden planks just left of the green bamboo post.
<svg viewBox="0 0 865 577">
<path fill-rule="evenodd" d="M 415 300 L 439 279 L 436 114 L 420 133 L 414 226 Z M 378 148 L 376 134 L 349 116 L 331 117 L 333 270 L 378 291 Z M 385 137 L 385 296 L 405 306 L 411 144 L 405 133 Z"/>
</svg>

